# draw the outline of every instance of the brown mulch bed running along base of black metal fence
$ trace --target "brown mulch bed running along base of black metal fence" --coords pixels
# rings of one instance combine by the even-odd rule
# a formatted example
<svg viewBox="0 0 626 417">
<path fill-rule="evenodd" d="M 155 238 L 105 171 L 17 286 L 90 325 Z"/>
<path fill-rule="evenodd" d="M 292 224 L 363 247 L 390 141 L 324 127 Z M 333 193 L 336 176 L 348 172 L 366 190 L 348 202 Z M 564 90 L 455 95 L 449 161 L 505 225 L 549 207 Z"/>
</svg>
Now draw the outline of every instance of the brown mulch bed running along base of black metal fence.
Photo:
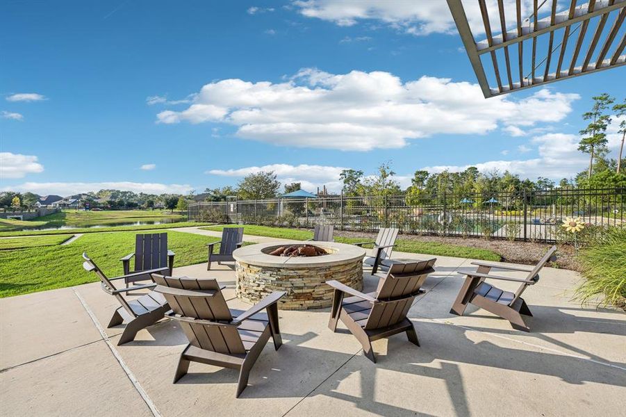
<svg viewBox="0 0 626 417">
<path fill-rule="evenodd" d="M 345 238 L 365 238 L 374 240 L 376 234 L 363 233 L 357 231 L 335 231 L 335 236 L 342 236 Z M 541 259 L 541 257 L 552 246 L 548 243 L 533 243 L 533 242 L 511 242 L 509 240 L 500 239 L 477 239 L 477 238 L 456 238 L 452 236 L 417 236 L 402 234 L 398 238 L 403 240 L 416 240 L 418 242 L 436 242 L 446 243 L 448 245 L 466 246 L 466 247 L 478 247 L 481 249 L 492 250 L 493 252 L 502 256 L 503 262 L 511 263 L 526 263 L 534 264 Z M 557 268 L 564 268 L 568 270 L 580 270 L 580 265 L 575 259 L 574 248 L 570 245 L 559 245 L 557 252 Z"/>
</svg>

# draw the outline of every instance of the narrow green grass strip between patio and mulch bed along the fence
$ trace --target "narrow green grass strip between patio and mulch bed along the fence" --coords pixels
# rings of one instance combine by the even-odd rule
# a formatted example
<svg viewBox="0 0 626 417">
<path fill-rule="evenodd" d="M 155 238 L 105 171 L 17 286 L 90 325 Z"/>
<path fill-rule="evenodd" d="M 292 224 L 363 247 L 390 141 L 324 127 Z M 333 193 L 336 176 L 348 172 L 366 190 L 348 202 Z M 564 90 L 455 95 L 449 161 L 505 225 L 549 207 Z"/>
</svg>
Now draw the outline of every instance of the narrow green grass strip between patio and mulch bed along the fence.
<svg viewBox="0 0 626 417">
<path fill-rule="evenodd" d="M 238 227 L 237 225 L 220 225 L 201 227 L 200 229 L 222 231 L 224 227 Z M 283 238 L 294 240 L 306 240 L 313 237 L 313 232 L 300 229 L 286 229 L 282 227 L 268 227 L 245 225 L 244 233 L 253 236 L 269 236 L 271 238 Z M 363 242 L 363 238 L 336 238 L 340 243 L 356 243 Z M 370 246 L 371 247 L 371 246 Z M 445 243 L 418 242 L 415 240 L 404 240 L 399 238 L 396 240 L 395 250 L 400 252 L 411 252 L 415 254 L 429 254 L 438 256 L 456 256 L 458 258 L 482 259 L 484 261 L 500 261 L 499 254 L 486 249 L 477 247 L 466 247 L 447 245 Z"/>
</svg>

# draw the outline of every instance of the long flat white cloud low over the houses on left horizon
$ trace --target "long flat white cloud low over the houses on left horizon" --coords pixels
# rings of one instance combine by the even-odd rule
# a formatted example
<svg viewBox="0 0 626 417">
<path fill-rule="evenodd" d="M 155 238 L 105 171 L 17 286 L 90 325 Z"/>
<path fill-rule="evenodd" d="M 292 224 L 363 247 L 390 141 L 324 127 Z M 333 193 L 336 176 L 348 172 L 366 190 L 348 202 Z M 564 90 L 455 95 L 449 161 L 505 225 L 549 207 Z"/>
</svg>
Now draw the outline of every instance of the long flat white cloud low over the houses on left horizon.
<svg viewBox="0 0 626 417">
<path fill-rule="evenodd" d="M 135 183 L 131 181 L 120 182 L 48 182 L 37 183 L 27 182 L 17 186 L 8 186 L 2 188 L 3 191 L 30 191 L 37 194 L 58 194 L 72 195 L 79 193 L 88 193 L 90 191 L 98 191 L 103 189 L 113 189 L 122 191 L 133 191 L 135 193 L 147 194 L 186 194 L 192 190 L 192 186 L 187 184 L 161 184 L 161 183 Z"/>
</svg>

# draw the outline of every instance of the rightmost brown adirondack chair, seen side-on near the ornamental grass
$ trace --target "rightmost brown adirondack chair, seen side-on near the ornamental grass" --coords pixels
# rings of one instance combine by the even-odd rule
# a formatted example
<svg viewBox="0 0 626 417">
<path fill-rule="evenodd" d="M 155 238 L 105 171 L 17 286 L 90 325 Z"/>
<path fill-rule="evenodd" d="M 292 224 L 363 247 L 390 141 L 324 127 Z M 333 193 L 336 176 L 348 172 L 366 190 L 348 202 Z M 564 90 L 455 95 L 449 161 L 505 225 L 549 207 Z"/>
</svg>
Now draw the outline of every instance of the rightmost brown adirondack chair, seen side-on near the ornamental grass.
<svg viewBox="0 0 626 417">
<path fill-rule="evenodd" d="M 466 280 L 463 283 L 461 291 L 459 291 L 459 295 L 457 295 L 454 304 L 452 304 L 450 313 L 463 316 L 463 312 L 465 312 L 468 303 L 472 303 L 475 306 L 479 306 L 481 309 L 490 311 L 496 316 L 509 320 L 514 329 L 530 332 L 530 329 L 524 322 L 522 315 L 532 316 L 532 313 L 522 298 L 522 293 L 528 286 L 536 284 L 536 282 L 539 281 L 539 271 L 543 268 L 543 265 L 545 265 L 547 261 L 554 261 L 556 259 L 554 252 L 557 252 L 556 246 L 552 246 L 543 258 L 541 258 L 541 261 L 534 266 L 534 268 L 493 265 L 485 262 L 472 262 L 472 265 L 478 265 L 477 270 L 459 271 L 466 274 Z M 528 275 L 525 279 L 500 277 L 490 273 L 493 268 L 528 272 Z M 487 284 L 485 282 L 486 279 L 520 282 L 521 285 L 515 293 L 511 293 L 509 291 L 502 291 L 500 288 L 496 288 L 491 284 Z"/>
</svg>

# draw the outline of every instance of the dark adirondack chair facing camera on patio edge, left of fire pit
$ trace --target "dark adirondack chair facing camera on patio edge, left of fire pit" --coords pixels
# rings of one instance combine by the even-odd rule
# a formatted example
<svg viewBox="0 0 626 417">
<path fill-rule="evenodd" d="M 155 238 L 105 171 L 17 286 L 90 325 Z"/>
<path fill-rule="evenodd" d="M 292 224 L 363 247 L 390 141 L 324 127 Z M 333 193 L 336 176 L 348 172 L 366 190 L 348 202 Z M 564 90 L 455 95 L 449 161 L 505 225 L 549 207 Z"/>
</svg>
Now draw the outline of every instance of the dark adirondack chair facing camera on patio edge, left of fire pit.
<svg viewBox="0 0 626 417">
<path fill-rule="evenodd" d="M 131 258 L 135 256 L 135 269 L 131 271 Z M 149 272 L 162 270 L 163 274 L 172 275 L 174 269 L 174 252 L 167 249 L 167 233 L 138 234 L 135 236 L 135 252 L 120 259 L 124 268 L 126 279 L 124 282 L 129 286 L 131 282 L 146 281 L 150 278 Z M 146 272 L 143 275 L 135 275 L 136 272 Z"/>
</svg>

